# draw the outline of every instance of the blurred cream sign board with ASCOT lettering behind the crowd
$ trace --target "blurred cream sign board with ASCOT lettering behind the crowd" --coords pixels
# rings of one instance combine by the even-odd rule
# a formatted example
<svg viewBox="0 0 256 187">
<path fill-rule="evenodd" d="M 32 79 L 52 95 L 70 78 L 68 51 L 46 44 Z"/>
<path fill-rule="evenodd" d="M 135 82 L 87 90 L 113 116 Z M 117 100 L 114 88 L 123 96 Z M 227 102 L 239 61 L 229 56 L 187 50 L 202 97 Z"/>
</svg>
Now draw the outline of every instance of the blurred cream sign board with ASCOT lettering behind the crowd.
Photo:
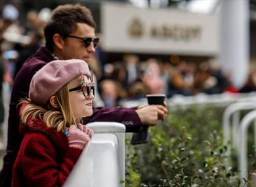
<svg viewBox="0 0 256 187">
<path fill-rule="evenodd" d="M 137 9 L 102 4 L 102 47 L 109 52 L 215 56 L 217 16 L 173 9 Z"/>
</svg>

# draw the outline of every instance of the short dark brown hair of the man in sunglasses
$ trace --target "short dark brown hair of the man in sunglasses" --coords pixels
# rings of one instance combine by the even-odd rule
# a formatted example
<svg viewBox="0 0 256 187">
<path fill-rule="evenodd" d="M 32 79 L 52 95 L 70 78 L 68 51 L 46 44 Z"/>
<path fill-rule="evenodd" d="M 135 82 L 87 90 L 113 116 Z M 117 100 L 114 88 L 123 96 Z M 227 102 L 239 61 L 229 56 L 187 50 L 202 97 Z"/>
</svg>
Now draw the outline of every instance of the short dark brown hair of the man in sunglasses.
<svg viewBox="0 0 256 187">
<path fill-rule="evenodd" d="M 63 39 L 77 29 L 77 23 L 88 24 L 95 28 L 95 20 L 91 10 L 86 7 L 76 5 L 60 5 L 53 10 L 51 19 L 45 25 L 43 30 L 45 35 L 45 45 L 47 49 L 53 52 L 53 35 L 58 33 Z"/>
</svg>

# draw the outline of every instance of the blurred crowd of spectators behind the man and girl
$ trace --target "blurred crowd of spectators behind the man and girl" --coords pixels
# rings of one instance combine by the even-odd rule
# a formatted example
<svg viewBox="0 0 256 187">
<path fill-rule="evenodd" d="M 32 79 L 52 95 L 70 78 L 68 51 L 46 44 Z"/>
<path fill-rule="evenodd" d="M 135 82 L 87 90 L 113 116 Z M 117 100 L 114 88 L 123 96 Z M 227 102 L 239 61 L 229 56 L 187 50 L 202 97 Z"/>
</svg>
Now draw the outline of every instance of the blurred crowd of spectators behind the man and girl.
<svg viewBox="0 0 256 187">
<path fill-rule="evenodd" d="M 51 10 L 30 10 L 25 22 L 20 22 L 19 15 L 19 1 L 12 1 L 1 10 L 0 81 L 10 86 L 25 60 L 43 45 L 43 26 L 51 16 Z M 124 54 L 122 59 L 108 62 L 100 45 L 89 66 L 97 77 L 102 103 L 107 107 L 119 106 L 123 99 L 139 100 L 146 94 L 166 94 L 169 98 L 175 94 L 190 96 L 256 90 L 256 69 L 251 69 L 244 87 L 236 89 L 215 63 L 172 58 L 168 62 L 157 58 L 142 61 L 136 54 Z"/>
</svg>

